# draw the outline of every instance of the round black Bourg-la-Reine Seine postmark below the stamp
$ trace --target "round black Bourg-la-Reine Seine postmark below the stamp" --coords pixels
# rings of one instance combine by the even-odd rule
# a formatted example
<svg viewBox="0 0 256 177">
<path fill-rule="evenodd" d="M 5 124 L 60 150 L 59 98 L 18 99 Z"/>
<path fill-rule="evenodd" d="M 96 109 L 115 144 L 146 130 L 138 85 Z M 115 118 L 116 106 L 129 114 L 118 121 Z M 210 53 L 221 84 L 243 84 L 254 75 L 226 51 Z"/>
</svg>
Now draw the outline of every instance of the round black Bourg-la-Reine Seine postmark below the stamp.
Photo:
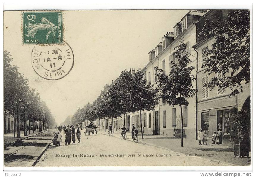
<svg viewBox="0 0 256 177">
<path fill-rule="evenodd" d="M 61 79 L 72 70 L 74 54 L 71 47 L 63 41 L 63 45 L 34 46 L 31 53 L 31 64 L 34 71 L 48 80 Z"/>
</svg>

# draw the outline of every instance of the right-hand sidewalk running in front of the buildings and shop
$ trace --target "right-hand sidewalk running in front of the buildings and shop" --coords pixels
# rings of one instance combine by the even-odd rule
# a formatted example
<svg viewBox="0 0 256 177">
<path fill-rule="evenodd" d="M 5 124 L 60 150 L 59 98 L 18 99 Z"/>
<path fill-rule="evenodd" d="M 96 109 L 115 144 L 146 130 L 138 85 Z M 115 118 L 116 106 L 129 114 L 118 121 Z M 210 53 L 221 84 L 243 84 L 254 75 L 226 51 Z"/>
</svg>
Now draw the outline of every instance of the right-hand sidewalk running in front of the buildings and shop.
<svg viewBox="0 0 256 177">
<path fill-rule="evenodd" d="M 98 131 L 99 132 L 99 131 Z M 101 134 L 108 135 L 108 130 L 106 132 L 100 131 Z M 120 138 L 121 131 L 114 131 L 113 137 Z M 139 143 L 148 146 L 156 146 L 163 149 L 172 150 L 182 154 L 187 154 L 188 156 L 202 157 L 208 160 L 213 160 L 215 162 L 231 163 L 234 165 L 250 165 L 251 158 L 244 157 L 234 157 L 234 151 L 232 147 L 211 144 L 208 141 L 207 145 L 199 145 L 197 140 L 193 139 L 183 139 L 183 147 L 181 147 L 181 139 L 175 137 L 164 137 L 160 135 L 144 135 L 141 139 L 141 134 L 139 133 Z M 128 141 L 132 141 L 131 132 L 127 133 Z M 208 157 L 207 157 L 208 156 Z M 210 156 L 210 157 L 209 157 Z M 212 156 L 212 157 L 211 157 Z M 196 165 L 196 162 L 195 162 Z"/>
</svg>

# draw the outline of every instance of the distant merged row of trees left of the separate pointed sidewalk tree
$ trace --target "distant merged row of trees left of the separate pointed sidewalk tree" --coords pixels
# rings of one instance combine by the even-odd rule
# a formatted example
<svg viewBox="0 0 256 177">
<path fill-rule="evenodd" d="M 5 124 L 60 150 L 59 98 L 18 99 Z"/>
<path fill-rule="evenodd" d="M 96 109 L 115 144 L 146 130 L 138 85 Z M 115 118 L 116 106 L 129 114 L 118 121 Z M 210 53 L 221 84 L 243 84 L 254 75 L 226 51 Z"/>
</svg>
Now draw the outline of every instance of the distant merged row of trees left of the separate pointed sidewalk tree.
<svg viewBox="0 0 256 177">
<path fill-rule="evenodd" d="M 93 104 L 87 104 L 82 109 L 78 108 L 72 117 L 75 122 L 86 120 L 94 121 L 96 118 L 104 119 L 117 118 L 123 115 L 125 125 L 125 115 L 129 112 L 140 111 L 140 127 L 142 130 L 141 111 L 154 110 L 158 103 L 158 90 L 143 79 L 143 72 L 138 69 L 135 74 L 123 71 L 116 83 L 109 86 L 107 92 L 97 98 Z M 105 127 L 106 131 L 106 127 Z M 143 138 L 143 133 L 141 133 Z"/>
</svg>

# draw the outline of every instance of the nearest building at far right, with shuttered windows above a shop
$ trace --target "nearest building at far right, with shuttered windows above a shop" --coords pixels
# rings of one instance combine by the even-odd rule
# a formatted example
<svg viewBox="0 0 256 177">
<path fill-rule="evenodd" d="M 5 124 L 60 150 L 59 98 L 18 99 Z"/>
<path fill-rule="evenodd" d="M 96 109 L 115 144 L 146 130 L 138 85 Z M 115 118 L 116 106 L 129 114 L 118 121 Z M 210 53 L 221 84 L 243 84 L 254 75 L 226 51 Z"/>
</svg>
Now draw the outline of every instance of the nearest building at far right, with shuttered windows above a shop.
<svg viewBox="0 0 256 177">
<path fill-rule="evenodd" d="M 242 82 L 243 92 L 239 95 L 229 96 L 231 90 L 229 88 L 218 90 L 214 87 L 209 90 L 203 87 L 205 83 L 213 77 L 224 77 L 222 73 L 208 74 L 205 72 L 206 67 L 202 68 L 202 60 L 206 57 L 205 51 L 212 48 L 215 38 L 204 38 L 198 34 L 202 31 L 206 19 L 216 21 L 217 19 L 225 20 L 230 10 L 211 10 L 201 17 L 196 23 L 197 43 L 193 46 L 197 51 L 197 129 L 206 130 L 208 137 L 211 137 L 214 131 L 218 131 L 220 127 L 223 134 L 223 144 L 233 147 L 234 129 L 233 120 L 230 117 L 232 112 L 241 111 L 241 109 L 250 108 L 250 84 L 245 85 Z M 230 73 L 226 73 L 226 76 Z"/>
</svg>

